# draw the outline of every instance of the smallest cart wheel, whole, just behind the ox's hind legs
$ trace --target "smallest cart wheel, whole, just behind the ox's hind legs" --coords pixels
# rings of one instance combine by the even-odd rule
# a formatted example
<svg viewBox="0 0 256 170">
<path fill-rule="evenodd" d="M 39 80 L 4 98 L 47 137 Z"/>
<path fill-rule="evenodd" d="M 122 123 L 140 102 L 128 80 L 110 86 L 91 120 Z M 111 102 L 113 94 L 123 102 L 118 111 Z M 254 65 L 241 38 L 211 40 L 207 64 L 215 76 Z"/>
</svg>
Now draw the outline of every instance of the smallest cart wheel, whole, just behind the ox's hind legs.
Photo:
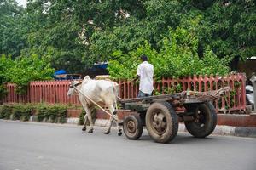
<svg viewBox="0 0 256 170">
<path fill-rule="evenodd" d="M 123 129 L 128 139 L 139 139 L 143 133 L 143 124 L 140 117 L 137 115 L 125 116 Z"/>
</svg>

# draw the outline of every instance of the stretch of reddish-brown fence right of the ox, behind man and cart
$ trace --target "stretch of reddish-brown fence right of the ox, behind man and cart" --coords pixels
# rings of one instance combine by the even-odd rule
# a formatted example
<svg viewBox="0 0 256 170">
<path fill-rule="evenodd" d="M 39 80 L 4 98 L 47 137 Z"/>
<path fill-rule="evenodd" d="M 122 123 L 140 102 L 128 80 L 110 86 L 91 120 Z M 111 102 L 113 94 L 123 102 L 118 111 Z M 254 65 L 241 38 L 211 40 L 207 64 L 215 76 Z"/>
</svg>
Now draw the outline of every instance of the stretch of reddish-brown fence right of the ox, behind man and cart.
<svg viewBox="0 0 256 170">
<path fill-rule="evenodd" d="M 230 86 L 232 91 L 226 98 L 214 101 L 216 111 L 224 113 L 230 111 L 245 111 L 245 74 L 238 73 L 225 77 L 213 76 L 194 76 L 183 77 L 181 79 L 162 79 L 160 82 L 154 82 L 154 91 L 160 94 L 176 93 L 185 90 L 195 90 L 206 92 L 209 90 L 218 90 L 225 86 Z M 119 96 L 123 99 L 135 98 L 138 94 L 138 84 L 131 82 L 119 82 Z"/>
</svg>

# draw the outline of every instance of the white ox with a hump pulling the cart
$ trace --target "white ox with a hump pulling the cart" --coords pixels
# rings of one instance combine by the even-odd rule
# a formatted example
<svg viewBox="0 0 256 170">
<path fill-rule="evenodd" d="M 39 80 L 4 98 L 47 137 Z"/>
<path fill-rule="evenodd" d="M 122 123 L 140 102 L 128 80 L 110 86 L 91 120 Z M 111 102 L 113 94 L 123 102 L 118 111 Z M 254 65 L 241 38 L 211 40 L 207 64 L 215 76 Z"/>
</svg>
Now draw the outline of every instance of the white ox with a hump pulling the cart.
<svg viewBox="0 0 256 170">
<path fill-rule="evenodd" d="M 83 82 L 74 81 L 73 85 L 82 91 L 83 94 L 87 95 L 90 99 L 92 99 L 96 104 L 102 107 L 108 107 L 111 114 L 118 120 L 118 116 L 116 115 L 116 108 L 117 108 L 117 98 L 119 94 L 119 84 L 116 82 L 106 81 L 106 80 L 93 80 L 90 79 L 89 76 L 84 77 Z M 90 99 L 86 99 L 83 94 L 80 94 L 76 91 L 72 85 L 67 92 L 67 97 L 78 94 L 79 101 L 83 105 L 85 116 L 84 116 L 84 126 L 82 128 L 83 131 L 86 131 L 86 123 L 87 120 L 90 122 L 90 129 L 88 133 L 93 133 L 93 122 L 91 118 L 91 111 L 95 108 Z M 110 122 L 108 129 L 106 130 L 105 134 L 110 133 L 111 126 L 113 124 L 113 117 L 110 116 Z M 119 127 L 118 121 L 117 126 L 119 130 L 119 135 L 122 134 L 122 129 Z"/>
</svg>

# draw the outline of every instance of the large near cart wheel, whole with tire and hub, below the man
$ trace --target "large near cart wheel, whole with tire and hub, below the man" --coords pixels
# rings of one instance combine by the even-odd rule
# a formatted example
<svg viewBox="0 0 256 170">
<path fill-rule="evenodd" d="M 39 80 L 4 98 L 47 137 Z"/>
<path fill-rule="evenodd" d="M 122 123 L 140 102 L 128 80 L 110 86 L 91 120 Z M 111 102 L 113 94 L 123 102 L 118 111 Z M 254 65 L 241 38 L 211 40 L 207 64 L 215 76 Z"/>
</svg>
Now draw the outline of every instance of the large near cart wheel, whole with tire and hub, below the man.
<svg viewBox="0 0 256 170">
<path fill-rule="evenodd" d="M 146 114 L 148 134 L 155 142 L 168 143 L 177 135 L 178 122 L 176 111 L 168 102 L 155 102 Z"/>
</svg>

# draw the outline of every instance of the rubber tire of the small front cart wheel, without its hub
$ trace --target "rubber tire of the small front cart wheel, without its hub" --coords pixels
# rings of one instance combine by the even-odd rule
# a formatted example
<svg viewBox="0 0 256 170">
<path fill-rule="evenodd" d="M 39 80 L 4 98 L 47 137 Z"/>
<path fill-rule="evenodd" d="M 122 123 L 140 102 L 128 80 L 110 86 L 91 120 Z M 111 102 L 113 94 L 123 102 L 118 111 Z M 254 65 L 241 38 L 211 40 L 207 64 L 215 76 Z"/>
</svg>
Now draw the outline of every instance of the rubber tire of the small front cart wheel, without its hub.
<svg viewBox="0 0 256 170">
<path fill-rule="evenodd" d="M 134 122 L 136 125 L 135 133 L 130 133 L 127 130 L 127 123 L 130 121 Z M 143 134 L 143 123 L 141 121 L 141 118 L 137 115 L 125 116 L 124 123 L 123 123 L 123 130 L 124 130 L 124 133 L 125 133 L 125 136 L 127 137 L 127 139 L 130 139 L 130 140 L 139 139 Z"/>
</svg>

